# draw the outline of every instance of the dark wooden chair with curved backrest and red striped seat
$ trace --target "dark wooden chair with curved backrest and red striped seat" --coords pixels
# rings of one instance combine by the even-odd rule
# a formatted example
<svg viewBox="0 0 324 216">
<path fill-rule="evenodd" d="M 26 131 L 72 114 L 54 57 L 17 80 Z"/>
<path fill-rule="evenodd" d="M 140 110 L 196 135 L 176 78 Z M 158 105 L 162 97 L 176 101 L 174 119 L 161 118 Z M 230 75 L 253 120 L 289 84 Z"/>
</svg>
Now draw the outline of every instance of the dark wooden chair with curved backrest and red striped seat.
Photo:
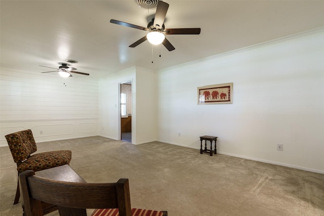
<svg viewBox="0 0 324 216">
<path fill-rule="evenodd" d="M 41 201 L 57 205 L 60 216 L 85 216 L 86 208 L 97 208 L 92 216 L 168 215 L 167 211 L 131 208 L 128 179 L 116 183 L 61 182 L 26 170 L 19 175 L 19 182 L 26 216 L 43 216 Z"/>
</svg>

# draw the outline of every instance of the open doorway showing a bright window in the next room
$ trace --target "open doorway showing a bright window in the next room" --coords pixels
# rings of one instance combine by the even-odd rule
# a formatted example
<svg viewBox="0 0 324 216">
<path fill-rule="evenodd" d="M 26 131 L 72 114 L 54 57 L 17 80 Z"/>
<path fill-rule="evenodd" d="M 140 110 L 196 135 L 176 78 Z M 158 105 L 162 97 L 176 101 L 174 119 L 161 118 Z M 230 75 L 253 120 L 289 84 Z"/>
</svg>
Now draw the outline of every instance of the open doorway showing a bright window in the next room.
<svg viewBox="0 0 324 216">
<path fill-rule="evenodd" d="M 132 143 L 132 81 L 120 84 L 120 140 Z"/>
</svg>

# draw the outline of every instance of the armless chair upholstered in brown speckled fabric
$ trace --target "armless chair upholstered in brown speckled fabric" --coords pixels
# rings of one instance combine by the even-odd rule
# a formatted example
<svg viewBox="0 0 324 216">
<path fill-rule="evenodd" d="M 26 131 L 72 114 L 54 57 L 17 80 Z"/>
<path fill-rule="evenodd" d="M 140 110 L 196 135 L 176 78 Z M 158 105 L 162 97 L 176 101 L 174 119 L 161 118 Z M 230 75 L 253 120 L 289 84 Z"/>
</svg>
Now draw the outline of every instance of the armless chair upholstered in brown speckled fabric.
<svg viewBox="0 0 324 216">
<path fill-rule="evenodd" d="M 33 154 L 37 151 L 36 142 L 30 129 L 6 135 L 12 157 L 17 163 L 18 176 L 25 170 L 39 171 L 56 166 L 69 164 L 72 158 L 70 150 L 58 150 Z M 17 183 L 14 204 L 20 197 L 19 183 Z"/>
</svg>

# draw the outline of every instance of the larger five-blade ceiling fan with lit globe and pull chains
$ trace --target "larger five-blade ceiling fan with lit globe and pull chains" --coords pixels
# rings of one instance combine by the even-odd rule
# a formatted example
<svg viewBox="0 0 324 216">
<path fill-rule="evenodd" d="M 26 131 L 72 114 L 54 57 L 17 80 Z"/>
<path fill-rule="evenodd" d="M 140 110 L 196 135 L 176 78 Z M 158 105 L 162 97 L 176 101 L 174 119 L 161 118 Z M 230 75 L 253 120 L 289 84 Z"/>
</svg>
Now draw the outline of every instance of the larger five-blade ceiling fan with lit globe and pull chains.
<svg viewBox="0 0 324 216">
<path fill-rule="evenodd" d="M 164 21 L 167 15 L 168 8 L 168 3 L 158 1 L 155 17 L 152 19 L 151 22 L 147 24 L 147 28 L 113 19 L 111 19 L 110 22 L 149 32 L 147 35 L 137 40 L 136 42 L 134 42 L 134 44 L 130 45 L 129 47 L 134 48 L 140 45 L 145 40 L 148 40 L 151 44 L 163 44 L 169 51 L 173 51 L 175 50 L 175 48 L 173 47 L 171 42 L 167 38 L 165 38 L 165 34 L 200 34 L 200 28 L 165 28 Z"/>
</svg>

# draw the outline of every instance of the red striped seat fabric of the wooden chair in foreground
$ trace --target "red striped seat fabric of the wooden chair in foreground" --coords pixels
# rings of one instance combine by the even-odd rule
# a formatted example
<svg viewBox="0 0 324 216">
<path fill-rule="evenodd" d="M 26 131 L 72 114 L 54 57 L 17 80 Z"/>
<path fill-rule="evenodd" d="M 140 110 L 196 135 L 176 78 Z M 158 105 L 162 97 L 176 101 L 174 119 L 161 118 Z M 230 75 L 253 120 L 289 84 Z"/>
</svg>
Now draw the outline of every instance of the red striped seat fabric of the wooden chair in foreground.
<svg viewBox="0 0 324 216">
<path fill-rule="evenodd" d="M 119 212 L 118 208 L 96 209 L 91 216 L 119 216 Z M 132 208 L 132 216 L 163 216 L 163 212 Z"/>
</svg>

